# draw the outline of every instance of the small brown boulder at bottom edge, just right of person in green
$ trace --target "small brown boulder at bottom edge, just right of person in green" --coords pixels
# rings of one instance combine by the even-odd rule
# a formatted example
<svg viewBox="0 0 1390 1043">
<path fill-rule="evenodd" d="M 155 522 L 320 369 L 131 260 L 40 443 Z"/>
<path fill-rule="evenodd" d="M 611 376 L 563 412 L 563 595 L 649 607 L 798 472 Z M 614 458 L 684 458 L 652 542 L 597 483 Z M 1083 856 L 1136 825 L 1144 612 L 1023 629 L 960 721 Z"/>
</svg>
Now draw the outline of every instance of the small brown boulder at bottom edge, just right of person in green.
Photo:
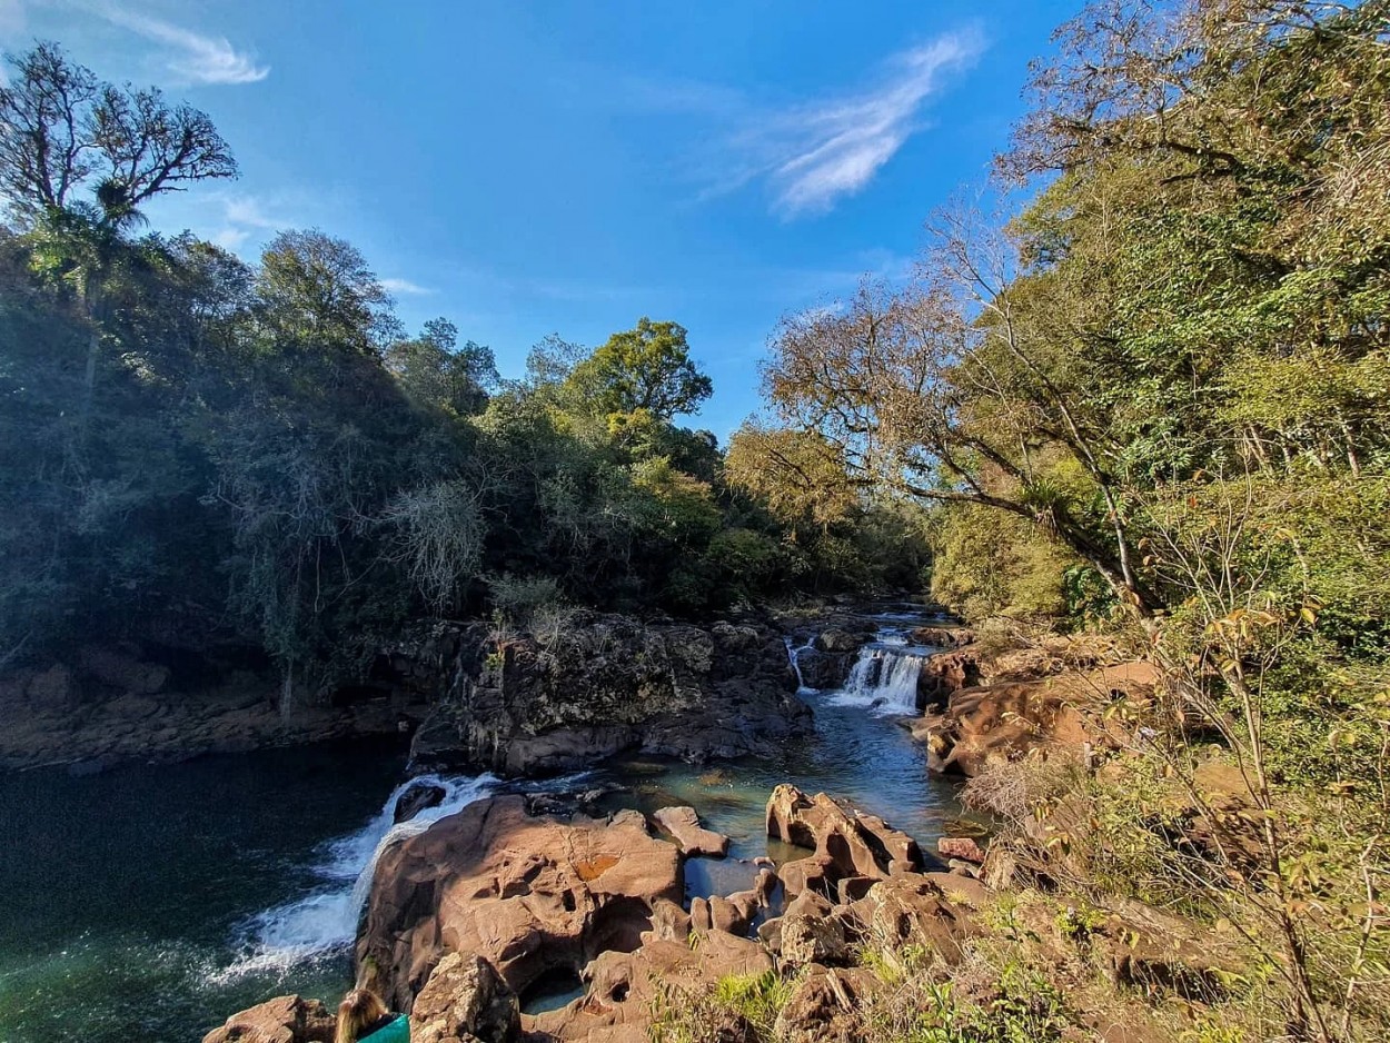
<svg viewBox="0 0 1390 1043">
<path fill-rule="evenodd" d="M 510 1043 L 520 1030 L 517 994 L 486 960 L 460 953 L 439 961 L 410 1012 L 413 1043 Z"/>
</svg>

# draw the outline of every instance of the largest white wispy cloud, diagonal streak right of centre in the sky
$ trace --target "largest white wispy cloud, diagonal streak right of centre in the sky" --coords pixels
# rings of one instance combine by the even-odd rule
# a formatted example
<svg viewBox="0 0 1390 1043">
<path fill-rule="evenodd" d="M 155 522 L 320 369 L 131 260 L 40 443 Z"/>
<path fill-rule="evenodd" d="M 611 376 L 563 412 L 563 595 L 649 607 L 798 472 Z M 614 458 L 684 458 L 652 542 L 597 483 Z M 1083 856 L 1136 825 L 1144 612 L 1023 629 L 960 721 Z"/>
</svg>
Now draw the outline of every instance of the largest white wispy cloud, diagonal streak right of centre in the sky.
<svg viewBox="0 0 1390 1043">
<path fill-rule="evenodd" d="M 873 181 L 923 129 L 922 110 L 945 75 L 967 68 L 983 50 L 977 32 L 948 33 L 892 56 L 869 89 L 774 111 L 752 108 L 737 120 L 705 195 L 760 181 L 783 217 L 830 210 Z M 724 99 L 720 107 L 727 107 Z"/>
</svg>

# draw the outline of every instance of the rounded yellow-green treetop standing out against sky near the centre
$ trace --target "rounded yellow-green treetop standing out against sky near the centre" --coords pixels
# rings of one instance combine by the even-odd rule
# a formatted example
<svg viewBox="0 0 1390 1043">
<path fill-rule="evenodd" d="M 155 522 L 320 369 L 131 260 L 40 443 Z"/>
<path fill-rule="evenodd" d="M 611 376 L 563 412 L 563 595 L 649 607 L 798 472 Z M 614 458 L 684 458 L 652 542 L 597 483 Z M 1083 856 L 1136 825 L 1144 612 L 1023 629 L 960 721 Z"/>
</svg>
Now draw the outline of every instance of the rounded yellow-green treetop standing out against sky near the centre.
<svg viewBox="0 0 1390 1043">
<path fill-rule="evenodd" d="M 689 357 L 685 327 L 646 317 L 578 363 L 567 385 L 598 414 L 646 410 L 662 421 L 696 412 L 714 389 Z"/>
</svg>

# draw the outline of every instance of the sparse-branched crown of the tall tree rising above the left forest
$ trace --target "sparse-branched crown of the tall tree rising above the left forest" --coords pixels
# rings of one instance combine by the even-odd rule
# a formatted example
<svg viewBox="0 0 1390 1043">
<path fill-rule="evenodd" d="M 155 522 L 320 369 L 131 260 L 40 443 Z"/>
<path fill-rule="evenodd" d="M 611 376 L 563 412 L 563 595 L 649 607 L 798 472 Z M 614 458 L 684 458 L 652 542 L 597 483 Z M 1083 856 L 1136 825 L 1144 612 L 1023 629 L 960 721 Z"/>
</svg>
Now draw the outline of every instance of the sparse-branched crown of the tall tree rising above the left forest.
<svg viewBox="0 0 1390 1043">
<path fill-rule="evenodd" d="M 120 225 L 185 182 L 236 177 L 206 113 L 170 107 L 154 88 L 100 82 L 53 43 L 8 56 L 0 86 L 0 189 L 26 221 L 76 206 Z M 92 200 L 74 195 L 92 189 Z"/>
</svg>

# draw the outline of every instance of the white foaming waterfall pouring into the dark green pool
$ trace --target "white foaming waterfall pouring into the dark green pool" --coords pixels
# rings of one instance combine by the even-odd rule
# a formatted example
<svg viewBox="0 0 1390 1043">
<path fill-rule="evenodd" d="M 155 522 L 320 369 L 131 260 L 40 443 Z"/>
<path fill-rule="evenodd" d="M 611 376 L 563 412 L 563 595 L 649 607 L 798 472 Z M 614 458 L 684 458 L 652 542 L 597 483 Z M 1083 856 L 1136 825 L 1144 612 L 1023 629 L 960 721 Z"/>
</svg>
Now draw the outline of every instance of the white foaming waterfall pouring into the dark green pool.
<svg viewBox="0 0 1390 1043">
<path fill-rule="evenodd" d="M 439 786 L 445 791 L 443 801 L 425 808 L 409 822 L 396 823 L 396 801 L 416 784 Z M 259 912 L 242 925 L 242 957 L 217 978 L 288 971 L 296 964 L 336 954 L 352 946 L 382 851 L 406 837 L 424 833 L 439 819 L 486 795 L 496 784 L 498 780 L 491 775 L 421 775 L 400 783 L 371 822 L 320 848 L 322 861 L 311 869 L 318 883 L 309 894 Z"/>
</svg>

